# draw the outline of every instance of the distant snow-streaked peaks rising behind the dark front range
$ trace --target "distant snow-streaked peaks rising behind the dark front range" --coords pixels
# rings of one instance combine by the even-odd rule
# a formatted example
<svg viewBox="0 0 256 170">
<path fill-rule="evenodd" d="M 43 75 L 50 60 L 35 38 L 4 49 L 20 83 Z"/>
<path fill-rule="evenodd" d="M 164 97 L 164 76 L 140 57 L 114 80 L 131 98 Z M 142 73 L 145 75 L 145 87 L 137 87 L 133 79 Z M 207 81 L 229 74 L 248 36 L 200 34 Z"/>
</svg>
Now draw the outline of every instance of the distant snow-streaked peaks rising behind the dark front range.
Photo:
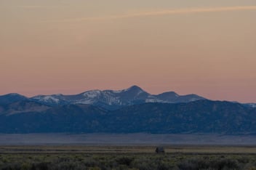
<svg viewBox="0 0 256 170">
<path fill-rule="evenodd" d="M 49 106 L 86 104 L 100 106 L 101 108 L 108 110 L 116 110 L 128 105 L 142 104 L 145 102 L 176 103 L 204 100 L 204 97 L 199 97 L 196 94 L 182 96 L 176 94 L 175 92 L 164 92 L 163 94 L 153 95 L 145 92 L 139 86 L 131 86 L 129 89 L 119 91 L 91 90 L 73 95 L 52 94 L 38 95 L 31 98 L 23 97 L 19 94 L 9 94 L 7 96 L 9 97 L 0 97 L 0 105 L 17 102 L 20 100 L 31 100 Z M 11 96 L 15 98 L 12 98 Z"/>
</svg>

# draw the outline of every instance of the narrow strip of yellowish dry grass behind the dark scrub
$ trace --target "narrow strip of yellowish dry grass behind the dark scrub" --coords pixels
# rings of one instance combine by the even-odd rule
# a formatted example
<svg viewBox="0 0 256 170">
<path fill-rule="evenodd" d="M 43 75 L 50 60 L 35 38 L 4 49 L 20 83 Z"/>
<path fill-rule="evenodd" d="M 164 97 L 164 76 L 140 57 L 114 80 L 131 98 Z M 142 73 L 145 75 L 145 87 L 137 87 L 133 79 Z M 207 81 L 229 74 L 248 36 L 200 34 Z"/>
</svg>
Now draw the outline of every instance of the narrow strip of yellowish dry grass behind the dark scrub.
<svg viewBox="0 0 256 170">
<path fill-rule="evenodd" d="M 0 153 L 154 153 L 156 146 L 0 146 Z M 164 146 L 166 153 L 256 154 L 256 146 Z"/>
</svg>

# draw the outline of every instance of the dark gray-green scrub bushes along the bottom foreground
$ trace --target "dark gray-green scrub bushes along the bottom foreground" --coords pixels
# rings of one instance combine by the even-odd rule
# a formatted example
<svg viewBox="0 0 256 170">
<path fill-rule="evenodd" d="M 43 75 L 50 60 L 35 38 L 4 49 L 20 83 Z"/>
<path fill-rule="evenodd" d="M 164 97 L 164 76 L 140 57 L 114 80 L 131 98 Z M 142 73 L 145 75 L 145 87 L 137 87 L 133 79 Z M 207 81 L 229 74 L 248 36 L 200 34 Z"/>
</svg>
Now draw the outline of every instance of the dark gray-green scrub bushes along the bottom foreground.
<svg viewBox="0 0 256 170">
<path fill-rule="evenodd" d="M 2 154 L 4 170 L 165 170 L 256 169 L 255 155 L 188 154 Z"/>
</svg>

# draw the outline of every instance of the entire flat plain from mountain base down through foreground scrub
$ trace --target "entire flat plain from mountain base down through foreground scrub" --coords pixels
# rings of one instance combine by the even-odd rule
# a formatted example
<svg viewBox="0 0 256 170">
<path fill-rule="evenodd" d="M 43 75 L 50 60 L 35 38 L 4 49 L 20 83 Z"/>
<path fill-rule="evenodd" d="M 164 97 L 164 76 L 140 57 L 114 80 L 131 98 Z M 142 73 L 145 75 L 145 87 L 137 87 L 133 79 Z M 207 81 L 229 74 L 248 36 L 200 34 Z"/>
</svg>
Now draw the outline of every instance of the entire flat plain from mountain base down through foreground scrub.
<svg viewBox="0 0 256 170">
<path fill-rule="evenodd" d="M 256 136 L 0 134 L 0 169 L 256 169 Z M 163 146 L 165 153 L 157 154 Z"/>
</svg>

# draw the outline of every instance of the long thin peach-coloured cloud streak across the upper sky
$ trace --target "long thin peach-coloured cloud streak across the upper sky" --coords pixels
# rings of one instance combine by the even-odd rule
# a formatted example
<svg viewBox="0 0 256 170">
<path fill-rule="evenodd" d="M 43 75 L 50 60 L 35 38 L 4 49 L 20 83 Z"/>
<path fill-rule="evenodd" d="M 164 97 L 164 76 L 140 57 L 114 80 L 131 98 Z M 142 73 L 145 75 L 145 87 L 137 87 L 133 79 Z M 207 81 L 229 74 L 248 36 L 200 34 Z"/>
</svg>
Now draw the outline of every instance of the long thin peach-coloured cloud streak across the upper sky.
<svg viewBox="0 0 256 170">
<path fill-rule="evenodd" d="M 196 14 L 205 12 L 231 12 L 231 11 L 245 11 L 256 10 L 256 6 L 236 6 L 236 7 L 209 7 L 209 8 L 189 8 L 189 9 L 171 9 L 153 12 L 139 12 L 125 15 L 108 15 L 103 17 L 80 17 L 67 20 L 58 20 L 56 22 L 81 22 L 89 20 L 117 20 L 131 17 L 151 17 L 159 15 L 184 15 L 184 14 Z M 52 21 L 54 22 L 54 21 Z"/>
</svg>

